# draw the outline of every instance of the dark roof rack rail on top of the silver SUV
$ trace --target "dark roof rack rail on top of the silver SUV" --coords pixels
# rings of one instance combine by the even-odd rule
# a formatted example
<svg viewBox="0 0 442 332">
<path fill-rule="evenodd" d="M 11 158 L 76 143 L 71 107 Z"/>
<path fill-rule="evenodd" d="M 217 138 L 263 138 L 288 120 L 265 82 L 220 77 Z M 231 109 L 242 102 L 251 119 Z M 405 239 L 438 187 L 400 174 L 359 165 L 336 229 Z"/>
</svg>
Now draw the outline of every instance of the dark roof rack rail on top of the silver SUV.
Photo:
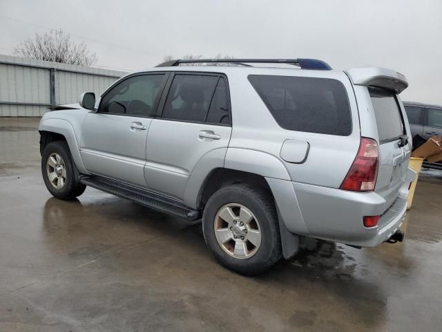
<svg viewBox="0 0 442 332">
<path fill-rule="evenodd" d="M 250 66 L 249 64 L 293 64 L 301 69 L 316 69 L 321 71 L 331 71 L 332 67 L 319 59 L 191 59 L 191 60 L 170 60 L 157 65 L 157 67 L 180 66 L 180 64 L 240 64 Z"/>
</svg>

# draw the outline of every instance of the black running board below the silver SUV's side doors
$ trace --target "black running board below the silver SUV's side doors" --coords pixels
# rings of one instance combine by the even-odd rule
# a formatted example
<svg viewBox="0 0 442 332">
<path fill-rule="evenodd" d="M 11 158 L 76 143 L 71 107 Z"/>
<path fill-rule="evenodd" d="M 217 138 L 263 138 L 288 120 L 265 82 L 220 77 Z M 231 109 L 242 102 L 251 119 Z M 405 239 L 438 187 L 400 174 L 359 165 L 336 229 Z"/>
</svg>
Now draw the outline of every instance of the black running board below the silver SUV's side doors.
<svg viewBox="0 0 442 332">
<path fill-rule="evenodd" d="M 82 175 L 79 177 L 79 181 L 89 187 L 108 192 L 109 194 L 122 197 L 123 199 L 134 201 L 147 208 L 159 210 L 174 216 L 180 216 L 189 221 L 200 219 L 200 211 L 198 210 L 189 209 L 186 205 L 178 201 L 154 194 L 153 192 L 140 190 L 131 185 L 125 185 L 101 176 Z"/>
</svg>

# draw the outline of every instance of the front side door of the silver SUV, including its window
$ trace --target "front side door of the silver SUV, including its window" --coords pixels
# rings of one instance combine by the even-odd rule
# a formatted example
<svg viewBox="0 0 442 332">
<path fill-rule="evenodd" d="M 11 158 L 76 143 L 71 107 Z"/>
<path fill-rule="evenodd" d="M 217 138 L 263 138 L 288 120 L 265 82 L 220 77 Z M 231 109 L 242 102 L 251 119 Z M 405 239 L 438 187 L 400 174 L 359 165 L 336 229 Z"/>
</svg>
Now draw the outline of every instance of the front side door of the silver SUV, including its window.
<svg viewBox="0 0 442 332">
<path fill-rule="evenodd" d="M 80 153 L 93 174 L 145 187 L 146 138 L 166 75 L 134 75 L 106 91 L 84 122 Z"/>
</svg>

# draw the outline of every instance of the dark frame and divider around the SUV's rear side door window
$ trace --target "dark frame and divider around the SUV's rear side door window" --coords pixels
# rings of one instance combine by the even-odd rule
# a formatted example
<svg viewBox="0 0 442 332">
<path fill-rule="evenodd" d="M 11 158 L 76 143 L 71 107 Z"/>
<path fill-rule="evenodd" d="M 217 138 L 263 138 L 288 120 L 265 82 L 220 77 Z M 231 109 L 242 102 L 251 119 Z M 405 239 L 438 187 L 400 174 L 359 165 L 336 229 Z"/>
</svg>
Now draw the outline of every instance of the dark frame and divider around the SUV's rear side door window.
<svg viewBox="0 0 442 332">
<path fill-rule="evenodd" d="M 206 111 L 206 116 L 204 120 L 207 118 L 207 115 L 209 113 L 209 109 L 212 104 L 213 96 L 215 95 L 216 88 L 218 86 L 218 83 L 220 82 L 220 78 L 224 78 L 224 82 L 226 84 L 226 90 L 227 90 L 227 107 L 229 108 L 229 118 L 230 123 L 212 123 L 212 122 L 206 122 L 206 121 L 194 121 L 194 120 L 178 120 L 178 119 L 170 119 L 170 118 L 164 118 L 164 107 L 166 106 L 166 100 L 169 96 L 169 93 L 171 92 L 171 86 L 173 83 L 173 79 L 176 75 L 197 75 L 197 76 L 215 76 L 218 77 L 218 81 L 215 85 L 215 89 L 213 90 L 213 94 L 211 96 L 211 102 L 209 104 L 209 108 Z M 157 114 L 156 117 L 160 120 L 167 120 L 167 121 L 175 121 L 175 122 L 188 122 L 188 123 L 200 123 L 200 124 L 210 124 L 212 126 L 221 126 L 221 127 L 232 127 L 233 118 L 232 118 L 232 111 L 231 111 L 231 100 L 230 100 L 230 88 L 229 88 L 229 80 L 227 79 L 227 75 L 224 73 L 211 73 L 206 71 L 173 71 L 171 72 L 171 75 L 169 76 L 166 86 L 164 86 L 164 90 L 162 91 L 162 96 L 160 98 L 160 102 L 157 107 Z"/>
</svg>

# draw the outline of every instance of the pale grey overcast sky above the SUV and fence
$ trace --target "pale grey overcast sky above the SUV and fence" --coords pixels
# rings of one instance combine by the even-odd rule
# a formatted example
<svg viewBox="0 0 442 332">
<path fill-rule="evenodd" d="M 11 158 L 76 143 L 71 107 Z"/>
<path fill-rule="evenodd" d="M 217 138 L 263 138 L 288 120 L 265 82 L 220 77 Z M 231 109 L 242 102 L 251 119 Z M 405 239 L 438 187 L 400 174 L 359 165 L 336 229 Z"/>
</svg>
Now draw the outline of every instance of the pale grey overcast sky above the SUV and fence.
<svg viewBox="0 0 442 332">
<path fill-rule="evenodd" d="M 403 73 L 403 100 L 442 104 L 441 0 L 0 0 L 0 53 L 62 28 L 97 66 L 137 70 L 164 55 L 315 57 L 336 69 Z"/>
</svg>

